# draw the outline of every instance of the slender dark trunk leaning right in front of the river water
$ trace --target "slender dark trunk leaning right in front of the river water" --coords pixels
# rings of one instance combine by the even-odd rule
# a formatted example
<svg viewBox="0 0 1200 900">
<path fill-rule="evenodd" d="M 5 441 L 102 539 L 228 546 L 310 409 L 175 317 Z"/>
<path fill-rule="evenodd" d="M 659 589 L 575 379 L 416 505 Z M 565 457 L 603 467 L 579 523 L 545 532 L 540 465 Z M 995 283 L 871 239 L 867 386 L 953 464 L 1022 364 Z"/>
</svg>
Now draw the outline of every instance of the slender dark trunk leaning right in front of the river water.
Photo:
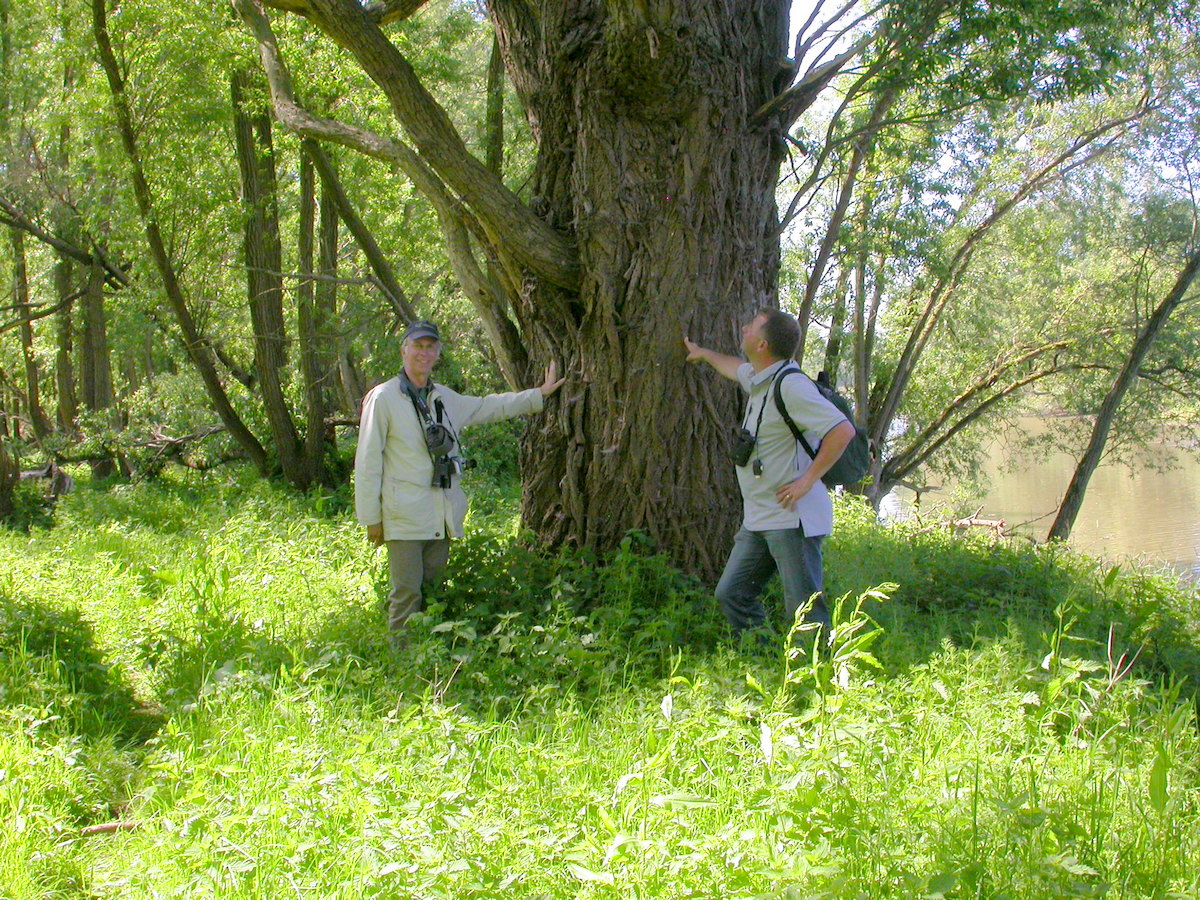
<svg viewBox="0 0 1200 900">
<path fill-rule="evenodd" d="M 1046 535 L 1046 540 L 1064 541 L 1070 536 L 1070 529 L 1074 528 L 1075 518 L 1084 505 L 1087 485 L 1097 466 L 1100 464 L 1100 458 L 1104 456 L 1104 448 L 1109 440 L 1112 420 L 1116 419 L 1121 402 L 1138 378 L 1141 364 L 1146 360 L 1146 355 L 1150 353 L 1151 347 L 1154 346 L 1154 341 L 1158 340 L 1171 313 L 1184 301 L 1188 288 L 1196 277 L 1198 269 L 1200 269 L 1200 251 L 1192 254 L 1192 258 L 1188 259 L 1183 270 L 1175 280 L 1175 286 L 1170 293 L 1163 298 L 1154 313 L 1142 324 L 1141 331 L 1138 334 L 1138 340 L 1134 341 L 1133 348 L 1129 350 L 1129 358 L 1117 373 L 1112 386 L 1109 388 L 1109 392 L 1100 404 L 1100 410 L 1097 413 L 1096 422 L 1092 426 L 1091 439 L 1087 442 L 1087 449 L 1075 467 L 1075 473 L 1072 475 L 1070 484 L 1067 486 L 1067 493 L 1063 494 L 1062 503 L 1058 505 L 1058 515 L 1055 516 L 1054 524 L 1050 526 L 1050 534 Z"/>
</svg>

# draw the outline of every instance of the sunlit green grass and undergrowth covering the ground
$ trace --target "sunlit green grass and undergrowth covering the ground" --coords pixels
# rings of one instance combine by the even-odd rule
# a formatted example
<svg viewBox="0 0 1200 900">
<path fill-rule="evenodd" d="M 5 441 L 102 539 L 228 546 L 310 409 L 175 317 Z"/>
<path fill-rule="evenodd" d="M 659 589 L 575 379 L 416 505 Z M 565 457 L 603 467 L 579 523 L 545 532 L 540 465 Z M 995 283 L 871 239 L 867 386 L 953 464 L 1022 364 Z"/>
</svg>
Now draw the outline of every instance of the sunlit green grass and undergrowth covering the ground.
<svg viewBox="0 0 1200 900">
<path fill-rule="evenodd" d="M 834 653 L 748 652 L 475 499 L 398 653 L 342 496 L 0 532 L 0 896 L 1200 895 L 1194 588 L 845 503 Z"/>
</svg>

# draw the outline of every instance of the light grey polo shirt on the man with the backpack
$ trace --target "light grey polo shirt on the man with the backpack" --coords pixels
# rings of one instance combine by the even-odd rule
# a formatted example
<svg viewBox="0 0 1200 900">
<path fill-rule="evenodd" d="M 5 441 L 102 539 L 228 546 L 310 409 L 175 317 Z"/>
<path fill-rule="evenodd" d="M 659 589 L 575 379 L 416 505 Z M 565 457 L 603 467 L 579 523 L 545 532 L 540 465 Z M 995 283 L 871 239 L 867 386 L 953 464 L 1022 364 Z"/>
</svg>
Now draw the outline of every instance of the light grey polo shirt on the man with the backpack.
<svg viewBox="0 0 1200 900">
<path fill-rule="evenodd" d="M 774 532 L 803 524 L 805 536 L 817 538 L 833 532 L 833 500 L 823 482 L 817 481 L 792 510 L 784 509 L 775 499 L 778 488 L 794 481 L 812 464 L 812 460 L 775 408 L 772 384 L 775 374 L 785 366 L 799 372 L 792 360 L 776 362 L 757 373 L 749 362 L 738 367 L 738 384 L 750 395 L 742 424 L 751 433 L 758 421 L 758 410 L 762 409 L 755 451 L 748 464 L 736 469 L 738 486 L 742 488 L 742 524 L 751 532 Z M 814 450 L 826 434 L 846 421 L 846 416 L 821 396 L 821 391 L 806 376 L 782 377 L 781 390 L 788 415 Z M 762 460 L 760 476 L 754 474 L 755 460 Z"/>
</svg>

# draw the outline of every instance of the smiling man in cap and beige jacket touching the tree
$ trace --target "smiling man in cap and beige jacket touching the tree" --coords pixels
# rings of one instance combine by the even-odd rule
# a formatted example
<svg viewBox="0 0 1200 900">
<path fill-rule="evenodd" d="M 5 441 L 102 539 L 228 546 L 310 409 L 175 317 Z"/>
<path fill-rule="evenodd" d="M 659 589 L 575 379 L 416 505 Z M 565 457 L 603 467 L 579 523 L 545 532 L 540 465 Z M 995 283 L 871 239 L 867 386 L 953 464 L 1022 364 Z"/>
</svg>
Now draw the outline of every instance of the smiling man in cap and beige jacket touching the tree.
<svg viewBox="0 0 1200 900">
<path fill-rule="evenodd" d="M 564 380 L 552 361 L 538 388 L 472 397 L 432 380 L 440 353 L 438 326 L 412 323 L 401 344 L 400 374 L 362 400 L 354 508 L 367 540 L 388 547 L 388 629 L 394 637 L 424 608 L 425 590 L 442 577 L 450 540 L 462 536 L 467 496 L 460 480 L 470 463 L 460 456 L 458 433 L 539 413 Z"/>
</svg>

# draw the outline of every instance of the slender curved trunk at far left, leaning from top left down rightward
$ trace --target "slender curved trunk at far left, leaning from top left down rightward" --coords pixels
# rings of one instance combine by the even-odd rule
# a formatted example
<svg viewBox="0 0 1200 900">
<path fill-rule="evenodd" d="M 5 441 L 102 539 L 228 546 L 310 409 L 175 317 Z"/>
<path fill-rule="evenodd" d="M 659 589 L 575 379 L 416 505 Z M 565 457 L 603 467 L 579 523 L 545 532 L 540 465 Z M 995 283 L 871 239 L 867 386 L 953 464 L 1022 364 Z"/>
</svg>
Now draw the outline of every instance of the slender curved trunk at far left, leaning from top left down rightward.
<svg viewBox="0 0 1200 900">
<path fill-rule="evenodd" d="M 226 431 L 245 451 L 247 458 L 260 472 L 268 470 L 268 457 L 258 438 L 253 436 L 246 424 L 238 415 L 238 412 L 229 402 L 221 377 L 217 374 L 212 361 L 212 348 L 200 335 L 196 319 L 187 307 L 187 300 L 179 284 L 174 265 L 167 253 L 167 245 L 162 239 L 158 227 L 158 218 L 155 212 L 154 199 L 150 193 L 150 184 L 146 181 L 145 170 L 142 167 L 142 158 L 138 152 L 133 118 L 130 113 L 128 101 L 125 96 L 125 78 L 121 76 L 120 65 L 113 53 L 112 41 L 108 36 L 108 20 L 104 10 L 106 0 L 92 0 L 92 32 L 96 36 L 96 47 L 100 52 L 101 65 L 108 80 L 109 94 L 113 97 L 113 108 L 116 113 L 116 122 L 121 133 L 121 143 L 125 146 L 126 157 L 130 161 L 130 179 L 133 182 L 133 194 L 137 198 L 138 212 L 146 233 L 146 244 L 155 266 L 162 278 L 163 292 L 175 314 L 175 322 L 184 338 L 184 349 L 196 370 L 200 373 L 204 389 L 209 400 L 217 410 Z"/>
</svg>

